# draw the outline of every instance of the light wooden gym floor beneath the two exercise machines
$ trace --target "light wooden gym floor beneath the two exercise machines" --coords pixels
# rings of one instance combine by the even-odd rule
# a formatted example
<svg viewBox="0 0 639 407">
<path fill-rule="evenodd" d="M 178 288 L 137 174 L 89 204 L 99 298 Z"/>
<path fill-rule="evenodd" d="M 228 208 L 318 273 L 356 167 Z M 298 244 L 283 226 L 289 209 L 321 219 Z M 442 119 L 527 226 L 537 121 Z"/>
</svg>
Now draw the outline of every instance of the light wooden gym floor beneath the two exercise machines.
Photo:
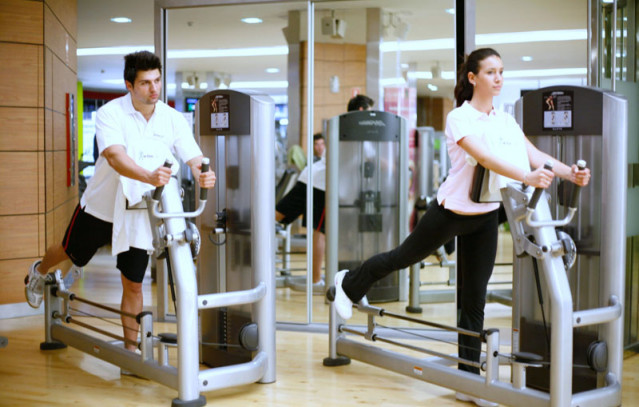
<svg viewBox="0 0 639 407">
<path fill-rule="evenodd" d="M 83 281 L 73 291 L 86 293 L 95 301 L 119 302 L 119 275 L 110 260 L 97 259 Z M 501 277 L 500 277 L 500 274 Z M 508 272 L 495 272 L 496 280 Z M 145 280 L 145 305 L 154 303 L 154 284 Z M 501 288 L 501 287 L 500 287 Z M 289 288 L 278 289 L 278 320 L 295 319 L 305 312 L 305 297 Z M 384 304 L 403 313 L 406 303 Z M 424 305 L 424 318 L 449 323 L 453 304 Z M 302 311 L 300 311 L 300 309 Z M 325 320 L 327 308 L 322 297 L 314 297 L 314 314 Z M 297 310 L 297 311 L 296 311 Z M 498 327 L 502 337 L 510 330 L 510 308 L 489 304 L 486 326 Z M 302 320 L 302 316 L 297 316 Z M 107 330 L 119 332 L 112 320 L 92 320 Z M 158 332 L 174 331 L 172 324 L 155 324 Z M 68 348 L 43 352 L 43 317 L 0 320 L 0 336 L 9 340 L 0 349 L 0 406 L 162 406 L 170 405 L 175 390 L 129 376 L 119 368 L 78 350 Z M 208 405 L 217 406 L 470 406 L 455 400 L 448 389 L 353 361 L 351 365 L 328 368 L 327 335 L 290 331 L 277 332 L 277 381 L 251 384 L 204 393 Z M 454 351 L 454 350 L 453 350 Z M 172 358 L 175 356 L 172 355 Z M 507 373 L 506 373 L 507 374 Z M 639 356 L 624 360 L 623 405 L 639 402 Z"/>
</svg>

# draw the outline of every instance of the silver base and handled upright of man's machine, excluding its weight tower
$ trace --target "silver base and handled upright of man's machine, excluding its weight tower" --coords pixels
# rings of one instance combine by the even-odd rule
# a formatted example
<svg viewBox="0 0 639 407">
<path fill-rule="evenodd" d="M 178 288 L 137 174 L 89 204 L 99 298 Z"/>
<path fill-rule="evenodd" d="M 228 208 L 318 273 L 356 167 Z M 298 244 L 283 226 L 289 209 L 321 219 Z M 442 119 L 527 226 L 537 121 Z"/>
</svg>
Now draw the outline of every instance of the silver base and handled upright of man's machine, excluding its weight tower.
<svg viewBox="0 0 639 407">
<path fill-rule="evenodd" d="M 164 190 L 164 191 L 162 191 Z M 180 200 L 177 180 L 171 178 L 166 187 L 156 188 L 153 194 L 146 193 L 149 217 L 154 234 L 156 253 L 168 250 L 169 261 L 175 271 L 175 289 L 177 291 L 177 337 L 156 335 L 153 332 L 153 316 L 150 312 L 132 315 L 80 298 L 67 291 L 59 270 L 49 273 L 45 283 L 45 341 L 40 344 L 42 350 L 61 349 L 68 346 L 77 348 L 138 376 L 145 377 L 178 390 L 178 398 L 172 405 L 202 406 L 206 404 L 200 395 L 216 374 L 213 370 L 200 372 L 198 343 L 198 300 L 195 281 L 195 266 L 191 254 L 185 217 L 199 216 L 205 208 L 206 190 L 202 190 L 199 208 L 196 212 L 184 213 Z M 158 210 L 161 202 L 162 212 Z M 135 318 L 140 324 L 140 341 L 129 340 L 93 324 L 83 322 L 72 315 L 72 304 L 81 302 L 117 316 Z M 80 331 L 72 326 L 84 328 Z M 107 341 L 89 334 L 93 331 L 101 336 L 114 339 Z M 168 346 L 179 344 L 177 367 L 169 365 Z M 138 347 L 140 354 L 126 350 L 124 344 Z M 158 349 L 157 359 L 154 349 Z M 212 374 L 213 373 L 213 374 Z"/>
</svg>

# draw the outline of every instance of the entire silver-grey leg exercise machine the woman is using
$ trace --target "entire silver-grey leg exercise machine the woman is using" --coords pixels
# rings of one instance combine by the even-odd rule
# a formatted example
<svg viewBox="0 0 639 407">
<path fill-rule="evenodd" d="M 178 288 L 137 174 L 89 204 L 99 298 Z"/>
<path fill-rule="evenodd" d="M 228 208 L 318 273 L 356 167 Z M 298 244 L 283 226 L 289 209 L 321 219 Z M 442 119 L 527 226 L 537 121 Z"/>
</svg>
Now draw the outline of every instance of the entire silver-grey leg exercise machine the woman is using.
<svg viewBox="0 0 639 407">
<path fill-rule="evenodd" d="M 547 103 L 550 96 L 552 104 Z M 627 101 L 618 95 L 579 87 L 540 89 L 516 105 L 524 132 L 540 149 L 564 162 L 583 156 L 594 176 L 581 201 L 579 188 L 565 183 L 532 194 L 531 188 L 517 183 L 501 191 L 514 243 L 510 349 L 500 349 L 497 329 L 463 331 L 368 303 L 357 304 L 368 315 L 365 329 L 349 327 L 331 305 L 329 356 L 324 365 L 348 364 L 354 358 L 512 406 L 621 405 L 627 111 Z M 329 300 L 332 296 L 334 288 L 327 293 Z M 431 340 L 444 334 L 415 329 L 398 333 L 397 328 L 376 322 L 381 317 L 476 336 L 485 343 L 483 356 L 477 364 L 403 344 L 396 338 Z M 380 349 L 352 335 L 433 357 Z M 451 363 L 470 364 L 484 374 L 459 371 Z M 500 378 L 500 365 L 510 366 L 508 381 Z"/>
</svg>

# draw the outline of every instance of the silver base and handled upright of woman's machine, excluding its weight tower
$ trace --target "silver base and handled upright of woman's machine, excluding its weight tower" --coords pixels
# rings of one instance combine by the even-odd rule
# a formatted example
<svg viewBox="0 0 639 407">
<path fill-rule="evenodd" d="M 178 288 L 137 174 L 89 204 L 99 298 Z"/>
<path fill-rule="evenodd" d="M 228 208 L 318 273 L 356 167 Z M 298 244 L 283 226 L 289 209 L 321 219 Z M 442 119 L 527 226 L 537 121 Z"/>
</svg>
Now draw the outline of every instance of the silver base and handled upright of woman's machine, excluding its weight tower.
<svg viewBox="0 0 639 407">
<path fill-rule="evenodd" d="M 574 189 L 578 191 L 578 188 Z M 349 327 L 344 324 L 331 302 L 329 315 L 329 356 L 324 359 L 325 366 L 338 366 L 350 363 L 354 358 L 378 367 L 405 374 L 419 380 L 447 387 L 474 397 L 483 398 L 511 406 L 617 406 L 621 403 L 620 372 L 611 370 L 605 363 L 603 347 L 594 346 L 592 358 L 589 359 L 589 369 L 603 372 L 605 377 L 604 387 L 588 392 L 570 393 L 572 368 L 573 326 L 580 324 L 598 323 L 604 320 L 615 320 L 621 316 L 621 306 L 618 301 L 609 306 L 587 311 L 572 312 L 570 301 L 570 289 L 565 273 L 564 255 L 566 249 L 562 241 L 558 239 L 555 226 L 565 225 L 572 219 L 576 211 L 578 195 L 570 205 L 567 216 L 562 221 L 552 221 L 550 208 L 542 190 L 536 190 L 530 196 L 531 188 L 522 190 L 521 185 L 512 183 L 502 189 L 502 197 L 506 212 L 511 222 L 513 240 L 519 243 L 517 253 L 521 256 L 532 256 L 539 259 L 539 267 L 546 279 L 544 284 L 552 293 L 551 296 L 551 320 L 553 323 L 551 364 L 542 356 L 527 352 L 502 352 L 500 350 L 499 330 L 485 329 L 482 332 L 472 332 L 456 327 L 449 327 L 439 323 L 432 323 L 400 314 L 388 312 L 382 308 L 360 302 L 356 308 L 368 315 L 368 324 L 365 330 Z M 526 232 L 524 232 L 526 231 Z M 532 237 L 534 236 L 534 237 Z M 619 267 L 614 273 L 618 278 L 623 268 Z M 327 297 L 332 300 L 335 288 L 331 287 Z M 417 345 L 402 343 L 404 339 L 437 339 L 438 332 L 415 330 L 407 328 L 394 328 L 385 326 L 379 329 L 381 324 L 376 318 L 390 317 L 416 324 L 422 324 L 442 331 L 453 332 L 458 335 L 470 335 L 478 337 L 485 344 L 480 362 L 473 362 L 459 358 L 455 354 L 447 354 L 441 351 L 423 348 Z M 361 340 L 354 340 L 346 334 L 361 336 L 373 342 L 384 342 L 397 345 L 400 348 L 409 349 L 412 352 L 420 352 L 432 355 L 431 358 L 421 358 L 394 350 L 381 349 L 369 345 Z M 442 333 L 439 332 L 441 337 Z M 442 342 L 442 339 L 437 339 Z M 446 342 L 446 341 L 444 341 Z M 446 342 L 451 345 L 452 343 Z M 621 352 L 619 352 L 619 355 Z M 457 364 L 466 364 L 480 368 L 485 372 L 484 376 L 458 370 Z M 499 378 L 500 364 L 509 365 L 511 368 L 510 382 L 501 381 Z M 550 392 L 543 392 L 527 386 L 527 369 L 537 366 L 550 366 L 551 383 Z"/>
</svg>

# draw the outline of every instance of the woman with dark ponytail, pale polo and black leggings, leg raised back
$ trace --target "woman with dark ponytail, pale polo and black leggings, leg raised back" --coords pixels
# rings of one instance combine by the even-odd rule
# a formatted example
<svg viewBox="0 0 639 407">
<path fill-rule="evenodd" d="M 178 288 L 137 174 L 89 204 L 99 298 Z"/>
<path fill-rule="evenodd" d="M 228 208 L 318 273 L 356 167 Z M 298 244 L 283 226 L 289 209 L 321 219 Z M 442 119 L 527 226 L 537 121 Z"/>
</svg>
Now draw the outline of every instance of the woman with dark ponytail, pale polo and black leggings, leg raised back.
<svg viewBox="0 0 639 407">
<path fill-rule="evenodd" d="M 499 203 L 470 200 L 474 165 L 479 163 L 493 173 L 536 188 L 547 188 L 554 175 L 580 186 L 588 184 L 590 170 L 579 170 L 576 165 L 569 167 L 539 151 L 510 115 L 493 108 L 493 98 L 501 91 L 503 70 L 501 57 L 490 48 L 473 51 L 460 68 L 455 87 L 457 108 L 448 114 L 445 131 L 452 165 L 437 193 L 439 205 L 433 205 L 426 212 L 399 247 L 371 257 L 354 270 L 342 270 L 335 275 L 335 307 L 342 318 L 351 317 L 353 303 L 376 281 L 421 261 L 457 237 L 460 280 L 457 326 L 480 332 L 484 325 L 488 280 L 497 252 Z M 514 146 L 519 157 L 499 154 L 500 150 L 491 147 L 495 145 L 511 149 Z M 554 163 L 554 173 L 543 168 L 548 160 Z M 531 171 L 531 166 L 536 169 Z M 461 358 L 477 362 L 480 351 L 478 338 L 459 335 Z M 460 363 L 459 369 L 479 374 L 478 368 L 466 364 Z M 459 393 L 457 398 L 477 405 L 495 405 Z"/>
</svg>

